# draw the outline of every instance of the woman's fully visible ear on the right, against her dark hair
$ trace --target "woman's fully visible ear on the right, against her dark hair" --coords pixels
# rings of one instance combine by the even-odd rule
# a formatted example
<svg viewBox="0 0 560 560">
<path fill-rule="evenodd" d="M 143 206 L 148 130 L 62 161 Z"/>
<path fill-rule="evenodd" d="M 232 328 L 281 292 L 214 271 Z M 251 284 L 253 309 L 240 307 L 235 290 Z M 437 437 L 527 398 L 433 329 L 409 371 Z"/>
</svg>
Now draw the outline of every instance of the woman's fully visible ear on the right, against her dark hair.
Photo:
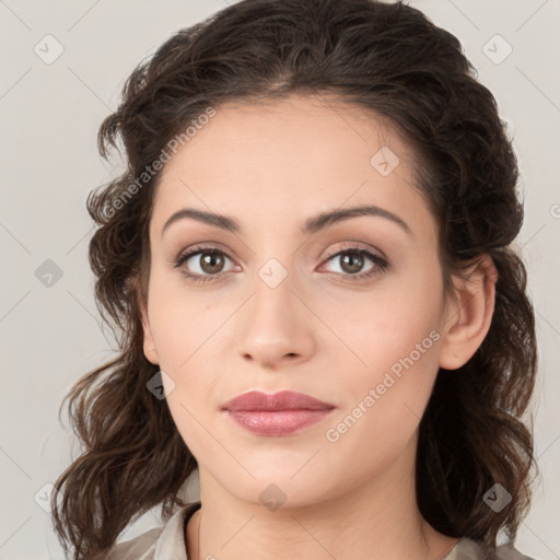
<svg viewBox="0 0 560 560">
<path fill-rule="evenodd" d="M 468 271 L 468 279 L 454 278 L 456 299 L 450 299 L 442 329 L 440 368 L 456 370 L 470 360 L 482 343 L 494 312 L 498 271 L 489 255 Z"/>
</svg>

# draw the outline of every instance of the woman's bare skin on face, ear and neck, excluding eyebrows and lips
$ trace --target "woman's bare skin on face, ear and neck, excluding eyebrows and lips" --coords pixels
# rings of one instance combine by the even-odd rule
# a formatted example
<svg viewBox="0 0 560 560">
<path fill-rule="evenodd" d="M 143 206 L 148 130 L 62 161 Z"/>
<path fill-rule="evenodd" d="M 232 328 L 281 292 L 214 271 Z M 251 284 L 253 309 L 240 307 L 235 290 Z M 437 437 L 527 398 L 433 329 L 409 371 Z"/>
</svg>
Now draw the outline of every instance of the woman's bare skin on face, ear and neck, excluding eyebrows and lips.
<svg viewBox="0 0 560 560">
<path fill-rule="evenodd" d="M 387 176 L 370 163 L 381 147 L 400 161 Z M 291 96 L 221 106 L 163 170 L 150 222 L 144 353 L 167 376 L 166 402 L 199 465 L 189 559 L 250 550 L 259 560 L 436 560 L 457 542 L 418 510 L 418 425 L 439 368 L 463 365 L 488 332 L 495 268 L 485 258 L 468 281 L 454 279 L 456 300 L 444 293 L 436 223 L 413 186 L 412 155 L 362 107 Z M 361 205 L 397 214 L 410 234 L 371 215 L 300 232 L 310 217 Z M 184 207 L 228 214 L 242 231 L 185 219 L 162 236 Z M 225 256 L 213 269 L 200 254 L 183 262 L 213 273 L 195 284 L 171 261 L 201 243 Z M 349 246 L 385 255 L 388 269 L 352 280 L 343 255 L 329 260 Z M 258 273 L 270 258 L 288 275 L 275 288 Z M 364 258 L 357 275 L 375 266 Z M 431 348 L 328 441 L 327 430 L 431 331 Z M 252 389 L 296 390 L 336 409 L 298 434 L 257 435 L 221 410 Z M 271 483 L 285 499 L 276 510 L 259 498 Z"/>
</svg>

